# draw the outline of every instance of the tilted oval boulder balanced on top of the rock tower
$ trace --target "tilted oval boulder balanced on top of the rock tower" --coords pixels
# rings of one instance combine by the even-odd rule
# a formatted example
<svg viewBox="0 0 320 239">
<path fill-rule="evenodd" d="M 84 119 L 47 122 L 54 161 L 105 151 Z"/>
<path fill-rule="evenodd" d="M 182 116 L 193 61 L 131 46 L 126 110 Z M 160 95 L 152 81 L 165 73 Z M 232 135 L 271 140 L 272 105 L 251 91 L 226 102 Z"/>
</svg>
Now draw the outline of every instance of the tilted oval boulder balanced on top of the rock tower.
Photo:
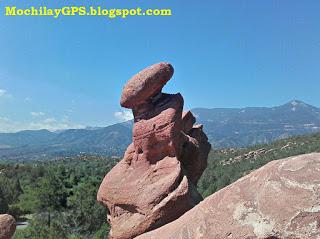
<svg viewBox="0 0 320 239">
<path fill-rule="evenodd" d="M 125 85 L 120 104 L 126 108 L 134 108 L 161 92 L 163 86 L 171 79 L 173 67 L 161 62 L 140 71 Z"/>
</svg>

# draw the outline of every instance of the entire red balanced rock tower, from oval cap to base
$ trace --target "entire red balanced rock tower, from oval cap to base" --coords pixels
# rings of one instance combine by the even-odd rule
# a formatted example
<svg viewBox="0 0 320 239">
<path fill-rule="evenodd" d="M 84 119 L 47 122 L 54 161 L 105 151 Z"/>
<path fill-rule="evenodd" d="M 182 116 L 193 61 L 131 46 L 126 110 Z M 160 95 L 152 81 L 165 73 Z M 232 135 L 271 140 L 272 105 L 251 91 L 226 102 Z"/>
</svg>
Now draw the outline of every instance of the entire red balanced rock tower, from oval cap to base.
<svg viewBox="0 0 320 239">
<path fill-rule="evenodd" d="M 120 103 L 134 114 L 133 142 L 97 195 L 108 208 L 110 238 L 156 229 L 202 200 L 195 185 L 211 145 L 192 113 L 183 113 L 182 96 L 161 92 L 172 75 L 170 64 L 155 64 L 123 89 Z"/>
</svg>

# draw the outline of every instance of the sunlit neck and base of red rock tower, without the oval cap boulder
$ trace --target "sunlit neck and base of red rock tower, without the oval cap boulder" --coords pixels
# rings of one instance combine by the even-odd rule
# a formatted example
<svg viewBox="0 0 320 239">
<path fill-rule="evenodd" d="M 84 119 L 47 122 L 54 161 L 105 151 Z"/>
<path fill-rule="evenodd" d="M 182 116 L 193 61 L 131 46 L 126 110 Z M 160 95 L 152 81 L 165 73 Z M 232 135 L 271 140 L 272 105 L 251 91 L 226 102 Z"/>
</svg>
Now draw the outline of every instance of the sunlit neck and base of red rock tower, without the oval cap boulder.
<svg viewBox="0 0 320 239">
<path fill-rule="evenodd" d="M 157 228 L 201 200 L 178 159 L 182 107 L 180 94 L 163 94 L 157 104 L 134 113 L 133 144 L 98 193 L 110 212 L 111 238 L 132 238 Z"/>
</svg>

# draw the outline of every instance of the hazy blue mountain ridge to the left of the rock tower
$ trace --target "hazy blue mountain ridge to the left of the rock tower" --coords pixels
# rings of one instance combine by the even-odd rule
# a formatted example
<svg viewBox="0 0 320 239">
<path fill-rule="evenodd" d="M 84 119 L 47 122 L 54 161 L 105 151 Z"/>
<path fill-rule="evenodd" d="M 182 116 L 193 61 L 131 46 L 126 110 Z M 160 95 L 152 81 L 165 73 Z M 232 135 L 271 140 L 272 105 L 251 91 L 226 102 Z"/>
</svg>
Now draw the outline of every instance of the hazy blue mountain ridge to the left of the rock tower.
<svg viewBox="0 0 320 239">
<path fill-rule="evenodd" d="M 0 133 L 0 160 L 42 160 L 80 154 L 121 156 L 131 143 L 132 122 L 58 132 Z"/>
</svg>

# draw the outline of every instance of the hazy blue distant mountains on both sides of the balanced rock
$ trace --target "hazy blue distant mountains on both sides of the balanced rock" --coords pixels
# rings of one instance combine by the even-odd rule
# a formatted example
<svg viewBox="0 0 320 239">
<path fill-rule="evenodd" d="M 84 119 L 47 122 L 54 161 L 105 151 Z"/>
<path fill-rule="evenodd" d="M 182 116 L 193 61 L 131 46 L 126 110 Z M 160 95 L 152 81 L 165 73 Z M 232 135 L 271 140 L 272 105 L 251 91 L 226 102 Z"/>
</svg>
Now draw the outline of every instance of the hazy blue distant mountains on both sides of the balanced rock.
<svg viewBox="0 0 320 239">
<path fill-rule="evenodd" d="M 320 131 L 320 109 L 298 100 L 271 108 L 196 108 L 192 112 L 215 148 L 246 147 Z M 128 121 L 102 128 L 0 133 L 0 160 L 122 156 L 131 142 L 131 129 Z"/>
</svg>

